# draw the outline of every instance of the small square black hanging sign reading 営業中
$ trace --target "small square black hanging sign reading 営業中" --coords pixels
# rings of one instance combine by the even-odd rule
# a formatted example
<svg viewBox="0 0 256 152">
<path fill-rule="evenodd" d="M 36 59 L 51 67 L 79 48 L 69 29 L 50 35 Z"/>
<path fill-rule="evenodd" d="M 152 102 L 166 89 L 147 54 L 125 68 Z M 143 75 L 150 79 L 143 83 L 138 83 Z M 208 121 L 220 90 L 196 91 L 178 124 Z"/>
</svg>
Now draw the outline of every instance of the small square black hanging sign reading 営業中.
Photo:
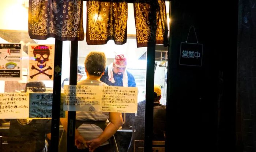
<svg viewBox="0 0 256 152">
<path fill-rule="evenodd" d="M 201 67 L 203 60 L 203 44 L 181 43 L 180 65 Z"/>
</svg>

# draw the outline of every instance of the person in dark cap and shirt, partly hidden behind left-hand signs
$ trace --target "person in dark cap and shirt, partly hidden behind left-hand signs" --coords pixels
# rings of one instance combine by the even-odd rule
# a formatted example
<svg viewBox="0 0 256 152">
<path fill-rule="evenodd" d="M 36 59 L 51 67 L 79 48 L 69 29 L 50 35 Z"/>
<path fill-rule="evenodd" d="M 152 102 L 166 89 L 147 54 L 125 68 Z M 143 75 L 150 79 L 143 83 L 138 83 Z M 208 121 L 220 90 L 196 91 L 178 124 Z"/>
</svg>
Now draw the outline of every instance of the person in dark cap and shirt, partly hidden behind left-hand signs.
<svg viewBox="0 0 256 152">
<path fill-rule="evenodd" d="M 27 88 L 33 88 L 33 92 L 45 91 L 43 82 L 29 82 Z M 51 120 L 49 119 L 11 119 L 10 136 L 13 137 L 34 137 L 35 152 L 47 152 L 46 137 L 50 140 Z"/>
</svg>

